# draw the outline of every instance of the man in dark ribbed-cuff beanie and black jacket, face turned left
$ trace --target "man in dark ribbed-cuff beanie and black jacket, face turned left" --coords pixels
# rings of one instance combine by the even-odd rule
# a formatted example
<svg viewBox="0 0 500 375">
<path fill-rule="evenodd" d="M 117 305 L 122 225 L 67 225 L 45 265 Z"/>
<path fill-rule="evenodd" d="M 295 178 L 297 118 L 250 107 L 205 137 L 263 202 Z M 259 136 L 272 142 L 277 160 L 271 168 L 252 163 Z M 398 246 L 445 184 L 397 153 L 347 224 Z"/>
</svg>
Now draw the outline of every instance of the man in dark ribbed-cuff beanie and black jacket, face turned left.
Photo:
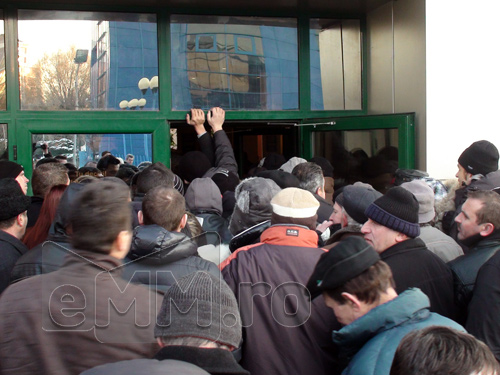
<svg viewBox="0 0 500 375">
<path fill-rule="evenodd" d="M 431 311 L 455 319 L 453 276 L 446 264 L 418 237 L 418 201 L 398 186 L 375 200 L 365 211 L 361 228 L 366 242 L 391 267 L 396 292 L 419 288 L 431 301 Z"/>
</svg>

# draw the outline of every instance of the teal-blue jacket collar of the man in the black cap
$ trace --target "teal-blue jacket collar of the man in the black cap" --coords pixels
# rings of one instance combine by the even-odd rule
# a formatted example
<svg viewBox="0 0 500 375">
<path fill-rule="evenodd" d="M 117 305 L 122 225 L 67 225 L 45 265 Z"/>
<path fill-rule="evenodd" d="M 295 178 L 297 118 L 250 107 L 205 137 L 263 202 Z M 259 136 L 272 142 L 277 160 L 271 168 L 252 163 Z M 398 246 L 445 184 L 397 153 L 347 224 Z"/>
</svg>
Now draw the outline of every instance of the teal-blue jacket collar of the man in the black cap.
<svg viewBox="0 0 500 375">
<path fill-rule="evenodd" d="M 333 342 L 342 358 L 354 356 L 370 339 L 409 320 L 424 320 L 430 315 L 429 298 L 417 288 L 401 293 L 395 299 L 370 310 L 339 331 L 333 331 Z"/>
</svg>

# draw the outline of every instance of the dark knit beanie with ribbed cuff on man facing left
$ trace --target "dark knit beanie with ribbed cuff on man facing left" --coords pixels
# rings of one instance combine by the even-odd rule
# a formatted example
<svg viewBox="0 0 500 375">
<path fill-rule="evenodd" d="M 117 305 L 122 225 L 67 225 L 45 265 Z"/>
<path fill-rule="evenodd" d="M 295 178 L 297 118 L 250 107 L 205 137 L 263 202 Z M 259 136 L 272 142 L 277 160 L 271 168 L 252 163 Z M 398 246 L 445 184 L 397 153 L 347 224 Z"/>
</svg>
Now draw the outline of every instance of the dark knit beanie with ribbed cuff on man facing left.
<svg viewBox="0 0 500 375">
<path fill-rule="evenodd" d="M 393 187 L 368 206 L 365 215 L 384 227 L 415 238 L 420 235 L 418 201 L 405 188 Z"/>
</svg>

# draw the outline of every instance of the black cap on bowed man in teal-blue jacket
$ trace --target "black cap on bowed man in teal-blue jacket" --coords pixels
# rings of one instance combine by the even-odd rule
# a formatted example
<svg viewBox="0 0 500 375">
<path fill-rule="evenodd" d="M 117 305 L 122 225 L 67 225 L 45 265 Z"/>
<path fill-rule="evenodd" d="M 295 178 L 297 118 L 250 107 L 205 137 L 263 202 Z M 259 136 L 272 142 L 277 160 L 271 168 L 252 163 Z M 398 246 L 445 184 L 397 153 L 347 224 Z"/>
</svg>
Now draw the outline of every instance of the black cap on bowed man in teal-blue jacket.
<svg viewBox="0 0 500 375">
<path fill-rule="evenodd" d="M 377 252 L 358 236 L 350 236 L 319 258 L 307 282 L 311 299 L 359 276 L 380 260 Z"/>
</svg>

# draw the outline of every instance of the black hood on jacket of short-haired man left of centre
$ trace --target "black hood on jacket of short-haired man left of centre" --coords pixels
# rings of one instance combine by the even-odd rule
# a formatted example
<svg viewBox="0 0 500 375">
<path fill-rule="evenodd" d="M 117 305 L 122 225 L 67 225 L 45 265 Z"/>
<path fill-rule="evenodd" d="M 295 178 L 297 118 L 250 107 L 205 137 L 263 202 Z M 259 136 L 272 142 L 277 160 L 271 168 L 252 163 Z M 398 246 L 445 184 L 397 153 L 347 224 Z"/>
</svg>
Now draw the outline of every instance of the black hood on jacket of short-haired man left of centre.
<svg viewBox="0 0 500 375">
<path fill-rule="evenodd" d="M 171 263 L 197 256 L 198 248 L 184 233 L 169 232 L 159 225 L 140 225 L 134 229 L 132 245 L 127 254 L 131 260 Z"/>
</svg>

